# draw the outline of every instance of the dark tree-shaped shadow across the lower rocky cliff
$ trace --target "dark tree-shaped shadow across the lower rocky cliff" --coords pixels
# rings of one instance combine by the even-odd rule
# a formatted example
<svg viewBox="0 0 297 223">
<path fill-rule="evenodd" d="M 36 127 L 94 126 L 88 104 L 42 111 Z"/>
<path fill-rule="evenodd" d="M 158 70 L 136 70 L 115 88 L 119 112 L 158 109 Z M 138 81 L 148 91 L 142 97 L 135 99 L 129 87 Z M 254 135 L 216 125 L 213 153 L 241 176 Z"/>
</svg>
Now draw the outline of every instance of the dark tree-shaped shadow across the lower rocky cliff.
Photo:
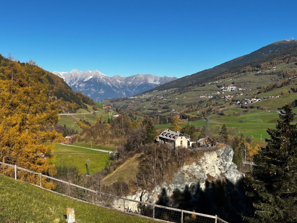
<svg viewBox="0 0 297 223">
<path fill-rule="evenodd" d="M 168 197 L 166 189 L 163 188 L 159 195 L 157 205 L 178 208 L 197 213 L 217 215 L 230 223 L 243 222 L 242 215 L 252 215 L 252 202 L 244 191 L 243 180 L 236 184 L 226 180 L 206 182 L 205 189 L 200 184 L 186 186 L 183 191 L 175 189 L 171 197 Z M 168 214 L 171 216 L 172 214 Z M 174 219 L 168 219 L 174 220 Z"/>
</svg>

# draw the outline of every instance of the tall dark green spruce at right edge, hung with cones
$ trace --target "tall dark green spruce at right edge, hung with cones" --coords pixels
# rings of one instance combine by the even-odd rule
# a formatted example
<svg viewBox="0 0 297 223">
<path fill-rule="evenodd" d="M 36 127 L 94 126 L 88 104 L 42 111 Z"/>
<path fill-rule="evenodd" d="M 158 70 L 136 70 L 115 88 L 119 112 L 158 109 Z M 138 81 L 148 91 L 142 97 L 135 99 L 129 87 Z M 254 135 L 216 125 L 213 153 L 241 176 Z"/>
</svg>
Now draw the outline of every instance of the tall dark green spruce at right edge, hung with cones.
<svg viewBox="0 0 297 223">
<path fill-rule="evenodd" d="M 252 191 L 255 216 L 249 222 L 297 222 L 297 124 L 289 105 L 276 129 L 268 129 L 267 145 L 254 157 Z"/>
</svg>

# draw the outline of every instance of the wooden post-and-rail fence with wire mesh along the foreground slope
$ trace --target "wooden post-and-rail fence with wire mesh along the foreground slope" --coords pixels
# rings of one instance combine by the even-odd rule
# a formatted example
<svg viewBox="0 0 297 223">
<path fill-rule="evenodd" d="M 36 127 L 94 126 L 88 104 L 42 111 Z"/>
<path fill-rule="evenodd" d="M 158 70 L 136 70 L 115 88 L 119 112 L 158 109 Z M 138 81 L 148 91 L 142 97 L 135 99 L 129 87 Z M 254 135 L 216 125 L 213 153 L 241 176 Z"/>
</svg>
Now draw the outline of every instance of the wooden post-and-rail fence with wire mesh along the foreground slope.
<svg viewBox="0 0 297 223">
<path fill-rule="evenodd" d="M 228 223 L 217 216 L 184 211 L 94 191 L 3 162 L 0 162 L 0 173 L 65 197 L 143 218 L 173 223 Z"/>
</svg>

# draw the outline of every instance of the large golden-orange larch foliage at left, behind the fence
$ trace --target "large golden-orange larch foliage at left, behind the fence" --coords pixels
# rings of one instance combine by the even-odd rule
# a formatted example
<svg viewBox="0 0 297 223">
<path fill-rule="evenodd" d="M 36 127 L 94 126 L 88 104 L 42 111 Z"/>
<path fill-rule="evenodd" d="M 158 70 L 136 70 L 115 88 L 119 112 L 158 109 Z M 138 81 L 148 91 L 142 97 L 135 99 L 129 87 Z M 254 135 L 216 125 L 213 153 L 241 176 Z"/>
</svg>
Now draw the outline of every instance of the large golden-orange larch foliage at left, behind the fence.
<svg viewBox="0 0 297 223">
<path fill-rule="evenodd" d="M 34 62 L 23 65 L 12 60 L 1 61 L 0 161 L 45 175 L 55 174 L 55 167 L 49 161 L 53 148 L 45 145 L 46 141 L 60 137 L 52 128 L 59 120 L 59 102 L 53 98 L 46 75 Z M 2 171 L 12 172 L 10 168 Z M 39 180 L 24 171 L 18 172 L 18 178 L 35 184 Z M 43 186 L 54 185 L 45 180 Z"/>
</svg>

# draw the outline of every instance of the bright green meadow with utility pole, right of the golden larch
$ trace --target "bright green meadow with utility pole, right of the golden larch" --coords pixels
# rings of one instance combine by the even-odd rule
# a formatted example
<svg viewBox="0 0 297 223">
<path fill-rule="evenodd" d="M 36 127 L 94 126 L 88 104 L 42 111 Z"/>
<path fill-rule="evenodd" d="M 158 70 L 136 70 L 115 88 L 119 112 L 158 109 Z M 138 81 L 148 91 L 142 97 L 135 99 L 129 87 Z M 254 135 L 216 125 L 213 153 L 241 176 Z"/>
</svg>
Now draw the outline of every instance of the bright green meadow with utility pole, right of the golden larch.
<svg viewBox="0 0 297 223">
<path fill-rule="evenodd" d="M 56 156 L 53 161 L 56 166 L 76 166 L 80 174 L 86 173 L 87 159 L 90 159 L 90 174 L 98 172 L 109 163 L 108 153 L 61 144 L 56 144 L 53 155 Z"/>
</svg>

